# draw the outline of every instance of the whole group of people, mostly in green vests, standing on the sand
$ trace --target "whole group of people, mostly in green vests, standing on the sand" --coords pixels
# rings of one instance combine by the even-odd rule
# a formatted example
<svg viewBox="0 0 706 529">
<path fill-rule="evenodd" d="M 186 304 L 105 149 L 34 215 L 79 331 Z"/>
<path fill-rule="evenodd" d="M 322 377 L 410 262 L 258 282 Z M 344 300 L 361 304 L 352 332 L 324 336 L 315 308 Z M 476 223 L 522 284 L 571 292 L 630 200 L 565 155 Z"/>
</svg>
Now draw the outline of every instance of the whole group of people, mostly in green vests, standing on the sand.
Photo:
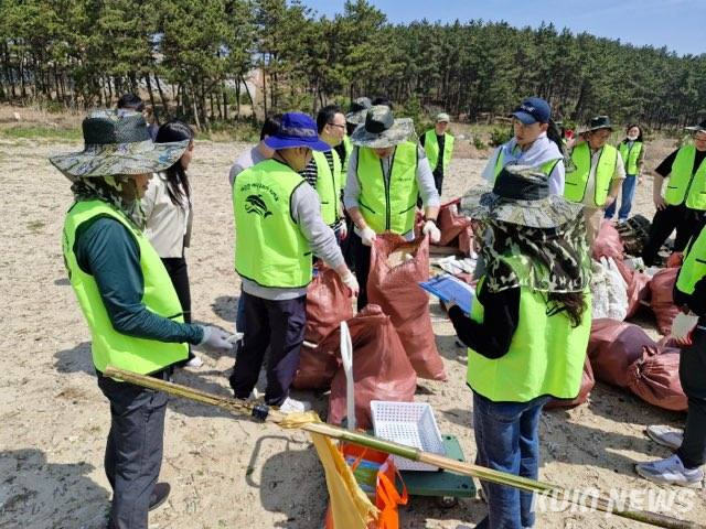
<svg viewBox="0 0 706 529">
<path fill-rule="evenodd" d="M 327 106 L 315 120 L 300 112 L 268 117 L 259 143 L 229 172 L 235 271 L 242 279 L 236 328 L 243 336 L 234 339 L 218 327 L 191 323 L 184 248 L 193 217 L 186 174 L 193 131 L 169 121 L 152 141 L 139 105 L 126 108 L 121 100 L 120 106 L 84 120 L 82 152 L 50 160 L 72 181 L 64 259 L 92 332 L 98 386 L 110 401 L 109 527 L 146 528 L 148 511 L 169 494 L 168 484 L 157 483 L 167 398 L 105 377 L 105 368 L 169 379 L 174 367 L 201 364 L 191 345 L 235 347 L 229 384 L 236 398 L 249 399 L 257 398 L 269 350 L 265 402 L 282 412 L 308 409 L 289 388 L 314 263 L 335 270 L 362 309 L 378 235 L 438 241 L 436 220 L 453 137 L 449 116 L 439 114 L 435 128 L 417 141 L 413 121 L 395 118 L 384 99 L 359 98 L 347 114 Z M 471 314 L 452 303 L 446 310 L 469 347 L 478 463 L 536 478 L 542 408 L 550 398 L 573 399 L 579 391 L 591 323 L 589 247 L 600 222 L 614 214 L 610 206 L 621 187 L 619 218 L 629 215 L 625 202 L 640 177 L 644 150 L 637 126 L 628 128 L 618 149 L 609 145 L 612 127 L 598 117 L 567 153 L 548 102 L 538 97 L 523 100 L 512 117 L 513 138 L 483 171 L 492 191 L 471 193 L 462 202 L 480 241 L 475 302 Z M 662 164 L 668 161 L 664 176 L 673 179 L 667 190 L 676 190 L 667 191 L 665 209 L 697 209 L 698 193 L 706 192 L 700 191 L 706 169 L 698 169 L 706 129 L 695 134 L 695 148 L 682 148 Z M 424 224 L 416 233 L 419 208 Z M 689 246 L 677 289 L 681 304 L 706 317 L 704 252 L 706 236 Z M 682 449 L 676 460 L 639 468 L 655 481 L 692 484 L 703 477 L 706 389 L 694 374 L 706 363 L 704 328 L 694 331 L 688 350 L 697 353 L 689 357 L 691 374 L 683 374 L 689 376 L 688 384 L 683 380 L 689 415 Z M 674 444 L 674 435 L 659 431 L 652 436 Z M 531 494 L 486 483 L 483 488 L 489 515 L 478 527 L 533 526 Z"/>
</svg>

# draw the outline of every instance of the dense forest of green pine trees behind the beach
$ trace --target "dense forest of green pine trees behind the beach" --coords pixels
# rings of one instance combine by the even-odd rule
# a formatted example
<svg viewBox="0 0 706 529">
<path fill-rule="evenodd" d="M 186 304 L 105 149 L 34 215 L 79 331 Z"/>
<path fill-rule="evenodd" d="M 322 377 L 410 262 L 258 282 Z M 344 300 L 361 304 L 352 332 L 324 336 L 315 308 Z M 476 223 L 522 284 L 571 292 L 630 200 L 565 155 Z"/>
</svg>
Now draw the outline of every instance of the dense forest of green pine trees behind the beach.
<svg viewBox="0 0 706 529">
<path fill-rule="evenodd" d="M 254 71 L 257 97 L 237 88 Z M 0 101 L 86 108 L 138 89 L 202 128 L 242 104 L 261 118 L 362 95 L 470 120 L 539 95 L 565 120 L 662 128 L 706 118 L 706 54 L 544 23 L 396 25 L 365 0 L 333 19 L 286 0 L 0 0 Z"/>
</svg>

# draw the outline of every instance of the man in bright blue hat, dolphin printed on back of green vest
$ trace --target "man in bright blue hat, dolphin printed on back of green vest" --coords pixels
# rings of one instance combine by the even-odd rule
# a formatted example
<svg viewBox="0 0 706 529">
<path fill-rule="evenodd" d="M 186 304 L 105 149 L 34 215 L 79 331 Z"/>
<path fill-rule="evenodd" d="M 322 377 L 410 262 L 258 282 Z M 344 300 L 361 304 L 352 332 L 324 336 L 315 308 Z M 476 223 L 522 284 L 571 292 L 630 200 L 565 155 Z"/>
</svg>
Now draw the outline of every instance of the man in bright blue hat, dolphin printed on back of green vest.
<svg viewBox="0 0 706 529">
<path fill-rule="evenodd" d="M 243 171 L 233 186 L 235 270 L 243 280 L 245 336 L 231 387 L 236 398 L 249 397 L 269 347 L 265 401 L 282 412 L 306 411 L 308 403 L 291 399 L 289 387 L 304 336 L 312 255 L 340 274 L 352 295 L 357 295 L 359 285 L 321 217 L 317 192 L 299 174 L 312 150 L 331 149 L 319 139 L 317 123 L 304 114 L 285 114 L 279 131 L 265 142 L 274 156 Z"/>
</svg>

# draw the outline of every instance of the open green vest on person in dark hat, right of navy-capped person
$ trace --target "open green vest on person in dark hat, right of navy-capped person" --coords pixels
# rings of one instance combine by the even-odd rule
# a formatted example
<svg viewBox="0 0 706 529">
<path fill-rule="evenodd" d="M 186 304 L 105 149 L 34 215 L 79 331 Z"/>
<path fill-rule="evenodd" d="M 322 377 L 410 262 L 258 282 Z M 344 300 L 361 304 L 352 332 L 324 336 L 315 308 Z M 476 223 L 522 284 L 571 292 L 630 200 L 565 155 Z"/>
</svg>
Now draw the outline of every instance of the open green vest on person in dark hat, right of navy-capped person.
<svg viewBox="0 0 706 529">
<path fill-rule="evenodd" d="M 576 169 L 566 172 L 564 197 L 567 201 L 580 204 L 584 202 L 586 187 L 588 187 L 588 177 L 591 172 L 591 150 L 587 142 L 579 143 L 574 148 L 571 160 Z M 593 207 L 603 207 L 606 205 L 617 162 L 618 149 L 612 145 L 603 145 L 596 168 Z"/>
</svg>

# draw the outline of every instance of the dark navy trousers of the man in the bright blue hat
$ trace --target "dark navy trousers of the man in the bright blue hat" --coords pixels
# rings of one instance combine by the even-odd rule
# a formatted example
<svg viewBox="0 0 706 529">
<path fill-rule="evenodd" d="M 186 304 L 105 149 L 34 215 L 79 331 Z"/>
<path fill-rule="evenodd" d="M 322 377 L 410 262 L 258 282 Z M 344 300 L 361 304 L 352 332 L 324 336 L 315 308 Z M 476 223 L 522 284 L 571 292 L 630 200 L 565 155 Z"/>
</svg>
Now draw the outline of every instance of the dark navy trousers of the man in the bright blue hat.
<svg viewBox="0 0 706 529">
<path fill-rule="evenodd" d="M 245 306 L 245 337 L 235 359 L 231 387 L 236 398 L 249 397 L 269 346 L 265 401 L 269 406 L 279 406 L 289 396 L 289 387 L 299 367 L 299 350 L 307 322 L 307 296 L 271 301 L 243 292 L 240 302 Z"/>
</svg>

